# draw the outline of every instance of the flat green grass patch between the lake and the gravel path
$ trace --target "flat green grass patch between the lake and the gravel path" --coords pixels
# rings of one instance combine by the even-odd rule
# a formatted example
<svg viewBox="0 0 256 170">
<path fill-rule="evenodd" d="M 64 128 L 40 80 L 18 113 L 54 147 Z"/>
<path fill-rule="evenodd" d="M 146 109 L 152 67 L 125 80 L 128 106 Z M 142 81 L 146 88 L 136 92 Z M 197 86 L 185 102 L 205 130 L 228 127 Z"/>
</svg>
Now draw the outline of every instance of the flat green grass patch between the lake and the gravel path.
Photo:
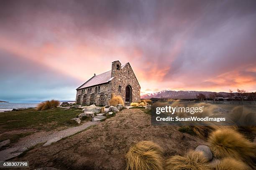
<svg viewBox="0 0 256 170">
<path fill-rule="evenodd" d="M 26 109 L 19 111 L 3 112 L 0 114 L 0 130 L 5 131 L 36 128 L 37 130 L 52 130 L 67 125 L 67 121 L 76 117 L 82 111 L 71 108 L 64 110 L 59 107 L 49 110 L 36 111 Z"/>
</svg>

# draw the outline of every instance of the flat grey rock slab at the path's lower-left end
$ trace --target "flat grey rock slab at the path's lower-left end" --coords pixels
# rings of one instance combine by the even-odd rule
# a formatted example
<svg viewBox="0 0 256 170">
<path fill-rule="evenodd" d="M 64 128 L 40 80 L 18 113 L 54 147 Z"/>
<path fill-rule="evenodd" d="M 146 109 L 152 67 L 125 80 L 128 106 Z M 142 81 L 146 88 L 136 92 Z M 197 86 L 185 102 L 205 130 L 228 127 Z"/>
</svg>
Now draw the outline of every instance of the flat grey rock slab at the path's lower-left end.
<svg viewBox="0 0 256 170">
<path fill-rule="evenodd" d="M 9 160 L 10 158 L 14 158 L 20 155 L 25 150 L 27 150 L 27 148 L 21 148 L 21 147 L 2 150 L 0 151 L 0 160 L 1 161 Z"/>
</svg>

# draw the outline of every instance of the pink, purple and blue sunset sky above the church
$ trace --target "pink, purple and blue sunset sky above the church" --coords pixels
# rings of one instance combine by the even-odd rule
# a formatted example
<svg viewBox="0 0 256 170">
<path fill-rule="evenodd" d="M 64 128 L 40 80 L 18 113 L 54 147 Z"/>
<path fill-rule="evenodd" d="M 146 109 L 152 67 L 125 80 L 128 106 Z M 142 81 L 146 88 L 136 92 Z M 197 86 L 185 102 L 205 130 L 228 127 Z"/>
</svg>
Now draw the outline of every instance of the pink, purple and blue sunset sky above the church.
<svg viewBox="0 0 256 170">
<path fill-rule="evenodd" d="M 255 0 L 0 0 L 0 100 L 74 100 L 111 62 L 141 94 L 256 91 Z"/>
</svg>

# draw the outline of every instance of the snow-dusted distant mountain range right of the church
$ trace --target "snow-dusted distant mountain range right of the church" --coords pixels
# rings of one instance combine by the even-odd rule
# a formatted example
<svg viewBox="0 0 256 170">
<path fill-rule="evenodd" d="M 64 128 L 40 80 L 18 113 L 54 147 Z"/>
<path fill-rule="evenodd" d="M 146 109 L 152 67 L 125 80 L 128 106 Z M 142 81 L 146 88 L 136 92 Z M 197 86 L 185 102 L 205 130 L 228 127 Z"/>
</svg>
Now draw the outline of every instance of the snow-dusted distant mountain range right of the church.
<svg viewBox="0 0 256 170">
<path fill-rule="evenodd" d="M 195 99 L 199 93 L 204 94 L 206 97 L 213 92 L 205 92 L 205 91 L 173 91 L 173 90 L 162 90 L 160 92 L 148 93 L 146 95 L 142 95 L 142 99 L 150 99 L 150 98 L 173 98 L 173 99 Z M 238 93 L 234 92 L 234 95 L 238 95 Z M 222 97 L 228 97 L 230 93 L 228 92 L 217 92 L 217 95 Z"/>
</svg>

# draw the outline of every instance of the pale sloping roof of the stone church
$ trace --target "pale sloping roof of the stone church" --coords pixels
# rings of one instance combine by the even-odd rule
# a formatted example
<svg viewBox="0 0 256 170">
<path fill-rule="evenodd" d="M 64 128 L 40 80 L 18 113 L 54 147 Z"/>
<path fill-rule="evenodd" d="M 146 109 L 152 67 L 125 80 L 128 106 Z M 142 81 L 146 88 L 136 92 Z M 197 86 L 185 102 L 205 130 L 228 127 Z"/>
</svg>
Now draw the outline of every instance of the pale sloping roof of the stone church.
<svg viewBox="0 0 256 170">
<path fill-rule="evenodd" d="M 125 63 L 125 65 L 127 63 Z M 125 65 L 122 65 L 121 68 L 123 68 Z M 111 77 L 111 70 L 109 70 L 109 71 L 103 72 L 103 73 L 101 73 L 99 75 L 94 75 L 92 78 L 87 80 L 87 82 L 85 82 L 80 87 L 78 87 L 77 90 L 78 89 L 82 89 L 82 88 L 86 88 L 86 87 L 90 87 L 90 86 L 94 86 L 94 85 L 99 85 L 99 84 L 107 83 L 107 82 L 111 81 L 113 78 L 114 77 Z"/>
</svg>

